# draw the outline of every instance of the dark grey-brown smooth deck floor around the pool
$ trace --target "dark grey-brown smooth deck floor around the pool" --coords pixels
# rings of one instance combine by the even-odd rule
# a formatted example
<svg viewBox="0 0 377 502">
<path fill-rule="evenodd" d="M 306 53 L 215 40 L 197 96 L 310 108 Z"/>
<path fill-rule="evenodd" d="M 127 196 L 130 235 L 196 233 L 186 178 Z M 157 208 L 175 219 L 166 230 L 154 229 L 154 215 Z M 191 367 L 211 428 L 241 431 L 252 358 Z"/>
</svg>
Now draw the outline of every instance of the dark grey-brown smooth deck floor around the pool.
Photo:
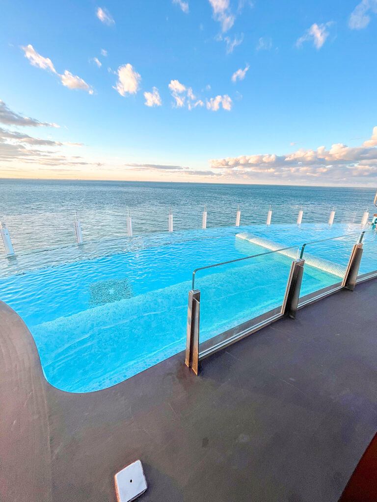
<svg viewBox="0 0 377 502">
<path fill-rule="evenodd" d="M 202 362 L 177 354 L 112 388 L 44 379 L 0 302 L 0 499 L 116 500 L 140 458 L 153 502 L 336 502 L 377 431 L 377 280 Z"/>
</svg>

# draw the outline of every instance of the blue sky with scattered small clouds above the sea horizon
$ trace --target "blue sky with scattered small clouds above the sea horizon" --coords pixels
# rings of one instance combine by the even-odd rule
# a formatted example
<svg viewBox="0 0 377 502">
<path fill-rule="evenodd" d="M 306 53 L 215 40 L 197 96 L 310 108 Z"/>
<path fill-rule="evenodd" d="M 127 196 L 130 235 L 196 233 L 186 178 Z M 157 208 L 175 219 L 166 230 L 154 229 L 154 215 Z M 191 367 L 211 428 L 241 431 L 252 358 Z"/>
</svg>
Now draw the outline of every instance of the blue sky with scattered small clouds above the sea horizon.
<svg viewBox="0 0 377 502">
<path fill-rule="evenodd" d="M 377 0 L 2 1 L 0 177 L 377 185 Z"/>
</svg>

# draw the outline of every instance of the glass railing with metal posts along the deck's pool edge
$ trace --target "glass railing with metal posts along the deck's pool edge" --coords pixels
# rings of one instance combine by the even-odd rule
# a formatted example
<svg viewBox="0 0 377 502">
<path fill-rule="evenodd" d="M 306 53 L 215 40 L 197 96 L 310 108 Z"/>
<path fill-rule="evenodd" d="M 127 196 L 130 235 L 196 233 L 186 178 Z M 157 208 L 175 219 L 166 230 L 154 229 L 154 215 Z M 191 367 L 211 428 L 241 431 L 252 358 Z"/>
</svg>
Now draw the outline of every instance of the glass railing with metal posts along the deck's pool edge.
<svg viewBox="0 0 377 502">
<path fill-rule="evenodd" d="M 198 368 L 201 359 L 260 327 L 286 314 L 295 317 L 297 308 L 343 287 L 353 290 L 356 278 L 374 275 L 374 229 L 196 269 L 189 295 L 186 364 Z M 196 320 L 191 323 L 193 314 Z M 191 364 L 193 340 L 199 340 L 196 364 Z"/>
</svg>

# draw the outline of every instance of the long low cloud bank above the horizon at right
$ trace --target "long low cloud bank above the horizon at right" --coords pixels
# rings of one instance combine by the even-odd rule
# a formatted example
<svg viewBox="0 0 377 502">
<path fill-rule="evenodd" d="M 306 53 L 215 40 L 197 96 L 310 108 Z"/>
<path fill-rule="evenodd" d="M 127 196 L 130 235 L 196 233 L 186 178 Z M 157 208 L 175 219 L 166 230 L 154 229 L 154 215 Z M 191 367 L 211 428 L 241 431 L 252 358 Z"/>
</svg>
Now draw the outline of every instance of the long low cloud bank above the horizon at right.
<svg viewBox="0 0 377 502">
<path fill-rule="evenodd" d="M 349 181 L 350 178 L 377 179 L 377 126 L 370 140 L 359 147 L 336 143 L 326 150 L 299 149 L 286 155 L 261 154 L 228 157 L 209 161 L 212 169 L 231 170 L 245 178 L 295 180 L 308 177 L 331 182 Z"/>
</svg>

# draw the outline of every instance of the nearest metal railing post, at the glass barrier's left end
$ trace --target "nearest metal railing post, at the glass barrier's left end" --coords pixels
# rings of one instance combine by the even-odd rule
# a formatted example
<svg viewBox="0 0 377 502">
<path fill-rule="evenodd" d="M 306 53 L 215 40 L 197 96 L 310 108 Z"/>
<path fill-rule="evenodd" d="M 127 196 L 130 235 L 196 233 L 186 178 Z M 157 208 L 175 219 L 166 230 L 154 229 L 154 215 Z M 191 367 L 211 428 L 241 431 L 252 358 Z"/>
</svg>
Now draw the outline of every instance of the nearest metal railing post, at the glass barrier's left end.
<svg viewBox="0 0 377 502">
<path fill-rule="evenodd" d="M 189 291 L 189 308 L 187 309 L 186 334 L 186 366 L 195 374 L 199 371 L 199 319 L 200 290 Z"/>
</svg>

